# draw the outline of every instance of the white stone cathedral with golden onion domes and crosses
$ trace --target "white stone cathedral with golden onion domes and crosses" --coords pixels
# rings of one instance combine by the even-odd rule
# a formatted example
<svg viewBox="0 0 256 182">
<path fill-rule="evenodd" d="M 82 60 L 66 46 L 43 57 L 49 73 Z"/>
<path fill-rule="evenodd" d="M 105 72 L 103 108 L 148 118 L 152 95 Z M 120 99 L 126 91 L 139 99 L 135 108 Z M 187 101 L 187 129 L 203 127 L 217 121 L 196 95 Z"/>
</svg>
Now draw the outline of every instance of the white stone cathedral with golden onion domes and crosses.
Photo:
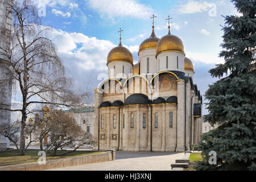
<svg viewBox="0 0 256 182">
<path fill-rule="evenodd" d="M 154 31 L 139 46 L 137 64 L 129 49 L 113 48 L 109 79 L 94 90 L 97 150 L 185 151 L 200 141 L 203 98 L 182 40 Z M 169 17 L 169 16 L 168 16 Z"/>
</svg>

